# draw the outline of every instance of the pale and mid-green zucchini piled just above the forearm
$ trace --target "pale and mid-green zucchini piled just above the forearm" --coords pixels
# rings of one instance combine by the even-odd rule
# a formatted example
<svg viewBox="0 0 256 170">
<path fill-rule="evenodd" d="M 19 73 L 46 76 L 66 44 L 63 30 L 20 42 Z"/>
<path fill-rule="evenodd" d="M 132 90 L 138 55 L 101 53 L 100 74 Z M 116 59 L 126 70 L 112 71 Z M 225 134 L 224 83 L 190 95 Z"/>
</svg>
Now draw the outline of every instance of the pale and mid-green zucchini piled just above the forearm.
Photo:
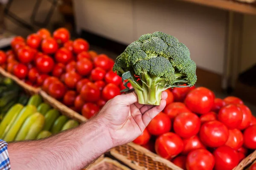
<svg viewBox="0 0 256 170">
<path fill-rule="evenodd" d="M 0 139 L 7 142 L 42 139 L 78 125 L 77 121 L 60 115 L 36 94 L 26 106 L 15 104 L 9 109 L 0 122 Z"/>
</svg>

